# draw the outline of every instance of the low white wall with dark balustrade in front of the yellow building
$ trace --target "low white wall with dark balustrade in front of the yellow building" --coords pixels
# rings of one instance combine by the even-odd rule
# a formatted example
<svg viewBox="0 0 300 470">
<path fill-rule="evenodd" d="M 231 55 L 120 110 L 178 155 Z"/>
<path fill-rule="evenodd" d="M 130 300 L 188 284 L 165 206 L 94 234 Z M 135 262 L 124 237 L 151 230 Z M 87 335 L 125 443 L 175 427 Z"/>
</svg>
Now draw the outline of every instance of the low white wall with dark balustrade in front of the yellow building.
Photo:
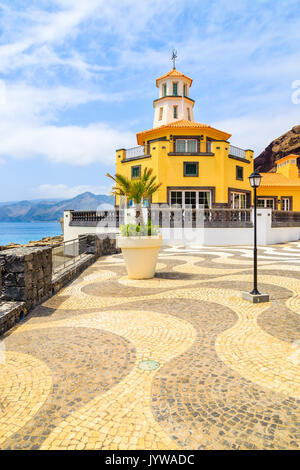
<svg viewBox="0 0 300 470">
<path fill-rule="evenodd" d="M 119 233 L 135 209 L 112 211 L 65 211 L 64 238 L 82 233 Z M 253 242 L 252 209 L 182 209 L 152 205 L 144 209 L 160 227 L 164 244 L 250 245 Z M 300 238 L 300 212 L 257 210 L 258 243 L 268 245 Z"/>
</svg>

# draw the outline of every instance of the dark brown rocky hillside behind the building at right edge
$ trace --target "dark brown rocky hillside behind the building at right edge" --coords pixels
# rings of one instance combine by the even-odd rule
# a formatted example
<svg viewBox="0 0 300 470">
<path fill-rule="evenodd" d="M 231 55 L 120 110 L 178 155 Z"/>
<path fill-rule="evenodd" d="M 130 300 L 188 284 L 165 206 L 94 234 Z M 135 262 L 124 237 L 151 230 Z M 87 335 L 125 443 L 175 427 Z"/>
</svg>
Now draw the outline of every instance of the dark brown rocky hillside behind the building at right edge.
<svg viewBox="0 0 300 470">
<path fill-rule="evenodd" d="M 285 134 L 273 140 L 254 160 L 257 171 L 276 171 L 275 162 L 290 153 L 300 156 L 300 126 L 294 126 Z"/>
</svg>

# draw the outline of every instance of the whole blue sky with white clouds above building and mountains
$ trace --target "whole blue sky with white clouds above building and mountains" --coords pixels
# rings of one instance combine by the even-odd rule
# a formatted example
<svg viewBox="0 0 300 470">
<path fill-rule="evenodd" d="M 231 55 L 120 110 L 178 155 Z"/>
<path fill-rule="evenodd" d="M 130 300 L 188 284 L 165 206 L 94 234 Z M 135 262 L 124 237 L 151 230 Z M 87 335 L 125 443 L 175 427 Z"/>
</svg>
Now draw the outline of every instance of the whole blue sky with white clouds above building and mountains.
<svg viewBox="0 0 300 470">
<path fill-rule="evenodd" d="M 258 155 L 300 124 L 299 44 L 299 0 L 0 0 L 0 201 L 108 193 L 173 47 L 195 120 Z"/>
</svg>

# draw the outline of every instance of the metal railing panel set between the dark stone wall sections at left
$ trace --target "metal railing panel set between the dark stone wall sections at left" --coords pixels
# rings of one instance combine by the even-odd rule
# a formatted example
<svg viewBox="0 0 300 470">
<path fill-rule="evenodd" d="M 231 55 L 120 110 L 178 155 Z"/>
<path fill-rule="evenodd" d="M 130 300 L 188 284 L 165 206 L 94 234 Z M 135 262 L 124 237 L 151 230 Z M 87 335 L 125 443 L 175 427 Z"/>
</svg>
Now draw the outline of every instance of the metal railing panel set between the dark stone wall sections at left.
<svg viewBox="0 0 300 470">
<path fill-rule="evenodd" d="M 87 248 L 87 237 L 69 240 L 52 248 L 52 274 L 75 265 L 87 254 Z"/>
</svg>

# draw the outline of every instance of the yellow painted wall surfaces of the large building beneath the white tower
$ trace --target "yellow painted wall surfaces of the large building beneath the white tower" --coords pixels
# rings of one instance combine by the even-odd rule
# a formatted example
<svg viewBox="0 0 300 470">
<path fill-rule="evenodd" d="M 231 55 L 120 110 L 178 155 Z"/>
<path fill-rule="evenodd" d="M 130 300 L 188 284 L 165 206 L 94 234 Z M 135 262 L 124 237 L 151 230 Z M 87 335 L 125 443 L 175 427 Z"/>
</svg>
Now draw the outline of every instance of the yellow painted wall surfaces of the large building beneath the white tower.
<svg viewBox="0 0 300 470">
<path fill-rule="evenodd" d="M 131 167 L 141 165 L 141 171 L 144 168 L 153 168 L 154 174 L 157 175 L 157 180 L 162 183 L 160 189 L 153 195 L 153 203 L 166 203 L 167 201 L 167 187 L 215 187 L 216 190 L 216 203 L 228 203 L 228 188 L 251 190 L 248 176 L 253 171 L 253 152 L 247 151 L 246 158 L 251 163 L 245 163 L 236 159 L 229 158 L 229 143 L 226 141 L 213 141 L 211 151 L 214 156 L 175 156 L 168 155 L 173 150 L 173 141 L 170 141 L 170 136 L 174 135 L 188 135 L 216 138 L 213 129 L 172 129 L 166 132 L 163 129 L 158 130 L 156 134 L 151 135 L 151 139 L 166 137 L 167 141 L 156 141 L 150 144 L 151 158 L 137 159 L 128 162 L 123 162 L 125 158 L 125 151 L 119 150 L 116 152 L 116 172 L 121 173 L 128 178 L 131 178 Z M 165 148 L 164 148 L 165 147 Z M 185 177 L 183 174 L 183 162 L 198 162 L 199 173 L 198 177 Z M 244 168 L 243 181 L 236 179 L 236 166 Z M 118 198 L 116 200 L 118 205 Z"/>
</svg>

